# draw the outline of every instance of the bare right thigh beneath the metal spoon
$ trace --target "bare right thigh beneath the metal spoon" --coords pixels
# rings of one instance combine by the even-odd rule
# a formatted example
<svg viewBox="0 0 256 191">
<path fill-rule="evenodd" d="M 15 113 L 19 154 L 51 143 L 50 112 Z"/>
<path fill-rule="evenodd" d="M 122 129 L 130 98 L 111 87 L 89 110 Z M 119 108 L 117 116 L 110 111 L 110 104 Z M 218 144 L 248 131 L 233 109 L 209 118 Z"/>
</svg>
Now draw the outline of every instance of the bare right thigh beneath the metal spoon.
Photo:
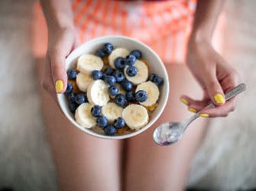
<svg viewBox="0 0 256 191">
<path fill-rule="evenodd" d="M 201 98 L 202 91 L 196 85 L 184 65 L 169 65 L 170 95 L 164 114 L 154 127 L 128 140 L 125 190 L 178 191 L 186 186 L 190 160 L 203 137 L 206 120 L 201 118 L 190 125 L 183 138 L 169 147 L 160 147 L 153 141 L 153 131 L 166 121 L 179 121 L 192 115 L 186 105 L 179 102 L 180 95 L 189 93 Z"/>
</svg>

